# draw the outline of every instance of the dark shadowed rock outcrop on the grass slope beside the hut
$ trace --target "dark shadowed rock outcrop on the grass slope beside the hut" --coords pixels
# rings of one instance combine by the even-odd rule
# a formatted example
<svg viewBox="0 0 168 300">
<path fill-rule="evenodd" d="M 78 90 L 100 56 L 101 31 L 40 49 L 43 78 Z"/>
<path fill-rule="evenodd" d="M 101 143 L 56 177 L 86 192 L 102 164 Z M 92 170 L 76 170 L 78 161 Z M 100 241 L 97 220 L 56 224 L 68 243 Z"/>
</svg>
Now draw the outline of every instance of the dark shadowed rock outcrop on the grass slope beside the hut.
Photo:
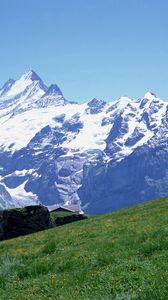
<svg viewBox="0 0 168 300">
<path fill-rule="evenodd" d="M 55 216 L 42 205 L 0 210 L 0 241 L 86 218 L 85 215 L 71 212 L 65 216 L 58 212 Z"/>
</svg>

